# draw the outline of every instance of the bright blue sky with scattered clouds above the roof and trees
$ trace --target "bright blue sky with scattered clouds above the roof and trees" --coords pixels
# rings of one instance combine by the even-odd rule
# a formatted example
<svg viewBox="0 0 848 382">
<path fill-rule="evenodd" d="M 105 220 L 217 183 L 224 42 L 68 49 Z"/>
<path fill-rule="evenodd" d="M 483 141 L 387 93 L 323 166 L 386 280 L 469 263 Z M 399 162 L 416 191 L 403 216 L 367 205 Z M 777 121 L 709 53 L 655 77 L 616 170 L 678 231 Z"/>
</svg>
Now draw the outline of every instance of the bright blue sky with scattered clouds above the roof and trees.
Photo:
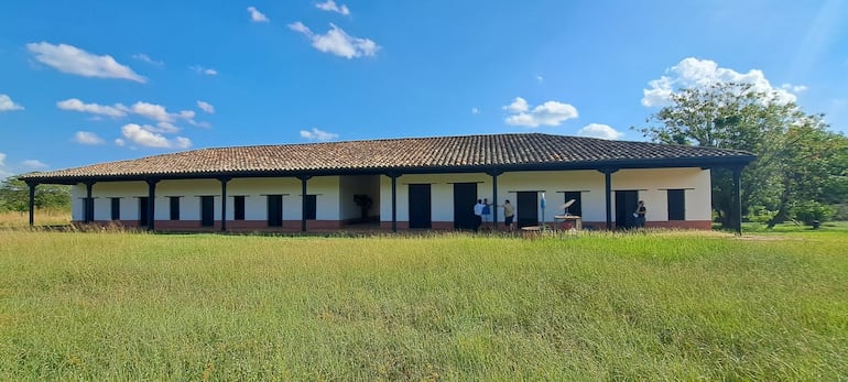
<svg viewBox="0 0 848 382">
<path fill-rule="evenodd" d="M 671 91 L 716 80 L 848 131 L 848 3 L 12 0 L 0 177 L 229 145 L 643 140 Z"/>
</svg>

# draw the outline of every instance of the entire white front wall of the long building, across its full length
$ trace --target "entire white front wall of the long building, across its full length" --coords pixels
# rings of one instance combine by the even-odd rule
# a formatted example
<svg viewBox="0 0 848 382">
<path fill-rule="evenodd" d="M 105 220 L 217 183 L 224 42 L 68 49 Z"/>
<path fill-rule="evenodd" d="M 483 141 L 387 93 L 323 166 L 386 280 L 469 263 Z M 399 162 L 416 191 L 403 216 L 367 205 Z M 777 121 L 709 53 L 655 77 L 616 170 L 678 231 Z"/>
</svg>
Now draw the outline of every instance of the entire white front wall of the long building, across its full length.
<svg viewBox="0 0 848 382">
<path fill-rule="evenodd" d="M 343 181 L 344 179 L 344 181 Z M 645 201 L 649 221 L 667 220 L 666 189 L 685 189 L 686 220 L 709 220 L 710 179 L 709 171 L 702 168 L 656 168 L 621 170 L 612 174 L 612 190 L 638 189 L 639 198 Z M 360 182 L 361 181 L 361 182 Z M 379 176 L 316 176 L 307 182 L 307 194 L 317 195 L 318 220 L 340 220 L 359 216 L 356 204 L 341 200 L 352 198 L 354 193 L 374 194 L 374 208 L 380 211 L 382 221 L 391 221 L 391 179 Z M 398 178 L 398 220 L 409 220 L 409 184 L 431 184 L 433 221 L 454 220 L 454 183 L 478 183 L 479 198 L 492 200 L 492 177 L 486 174 L 421 174 L 403 175 Z M 368 186 L 366 186 L 368 185 Z M 361 187 L 361 188 L 360 188 Z M 370 189 L 369 189 L 370 188 Z M 558 209 L 564 196 L 558 192 L 583 192 L 583 218 L 586 221 L 605 221 L 606 207 L 604 197 L 604 174 L 597 171 L 557 171 L 504 173 L 498 177 L 498 203 L 510 199 L 515 205 L 515 192 L 543 190 L 547 201 L 545 219 L 562 212 Z M 232 220 L 232 196 L 243 195 L 244 219 L 265 220 L 268 218 L 267 195 L 283 196 L 283 219 L 301 219 L 301 181 L 293 177 L 279 178 L 236 178 L 227 186 L 227 219 Z M 85 185 L 78 184 L 72 189 L 74 220 L 83 220 L 83 197 Z M 148 196 L 144 182 L 101 182 L 94 185 L 95 220 L 111 218 L 111 197 L 121 198 L 121 219 L 139 219 L 138 197 Z M 215 219 L 220 219 L 220 182 L 216 179 L 162 181 L 156 185 L 155 214 L 157 220 L 170 218 L 168 196 L 182 196 L 180 199 L 181 220 L 200 220 L 200 196 L 215 196 Z M 347 195 L 347 196 L 346 196 Z M 615 197 L 611 197 L 615 211 Z M 343 210 L 343 206 L 345 209 Z M 502 209 L 498 211 L 503 219 Z M 539 216 L 542 216 L 541 209 Z"/>
</svg>

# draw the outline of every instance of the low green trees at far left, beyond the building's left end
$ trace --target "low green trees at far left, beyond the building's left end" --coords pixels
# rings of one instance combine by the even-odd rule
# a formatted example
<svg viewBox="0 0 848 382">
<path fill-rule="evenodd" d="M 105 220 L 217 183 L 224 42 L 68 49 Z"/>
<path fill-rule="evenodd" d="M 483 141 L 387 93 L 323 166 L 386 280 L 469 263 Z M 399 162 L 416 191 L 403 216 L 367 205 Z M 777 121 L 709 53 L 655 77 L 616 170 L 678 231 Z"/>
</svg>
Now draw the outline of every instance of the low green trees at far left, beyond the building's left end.
<svg viewBox="0 0 848 382">
<path fill-rule="evenodd" d="M 35 187 L 35 207 L 70 209 L 70 186 L 40 185 Z M 0 182 L 0 209 L 25 212 L 30 209 L 30 186 L 17 177 Z"/>
</svg>

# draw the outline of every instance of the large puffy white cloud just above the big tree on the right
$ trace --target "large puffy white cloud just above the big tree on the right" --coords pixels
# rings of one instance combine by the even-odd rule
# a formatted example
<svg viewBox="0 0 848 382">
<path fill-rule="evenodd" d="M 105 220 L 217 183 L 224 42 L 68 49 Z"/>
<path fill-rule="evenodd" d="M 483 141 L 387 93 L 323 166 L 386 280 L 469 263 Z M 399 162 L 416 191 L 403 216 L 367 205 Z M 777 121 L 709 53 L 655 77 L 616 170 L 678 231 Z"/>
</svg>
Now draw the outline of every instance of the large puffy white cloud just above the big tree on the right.
<svg viewBox="0 0 848 382">
<path fill-rule="evenodd" d="M 751 84 L 753 91 L 774 92 L 778 101 L 794 102 L 795 92 L 803 91 L 806 87 L 775 88 L 765 79 L 762 70 L 751 69 L 748 73 L 738 73 L 733 69 L 719 67 L 709 59 L 687 57 L 677 65 L 665 70 L 666 75 L 648 83 L 650 89 L 642 90 L 642 105 L 645 107 L 662 107 L 668 105 L 671 95 L 682 88 L 707 87 L 718 83 Z"/>
</svg>

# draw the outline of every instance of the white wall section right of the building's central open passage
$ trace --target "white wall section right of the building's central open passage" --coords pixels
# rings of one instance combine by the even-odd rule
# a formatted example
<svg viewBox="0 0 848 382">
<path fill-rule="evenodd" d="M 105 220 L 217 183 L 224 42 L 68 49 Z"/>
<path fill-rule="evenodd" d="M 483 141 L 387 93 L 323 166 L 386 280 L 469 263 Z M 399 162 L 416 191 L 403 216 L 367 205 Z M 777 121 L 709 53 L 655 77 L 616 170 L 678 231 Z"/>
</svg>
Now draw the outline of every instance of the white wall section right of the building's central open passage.
<svg viewBox="0 0 848 382">
<path fill-rule="evenodd" d="M 480 199 L 492 201 L 492 177 L 486 174 L 437 174 L 403 175 L 398 178 L 398 220 L 409 220 L 409 184 L 431 184 L 433 221 L 454 220 L 454 183 L 479 182 L 477 195 Z M 612 212 L 615 220 L 615 190 L 638 189 L 640 199 L 648 206 L 648 220 L 667 220 L 666 189 L 684 188 L 686 198 L 686 220 L 710 219 L 710 181 L 709 171 L 702 168 L 655 168 L 621 170 L 612 174 L 613 195 Z M 606 198 L 604 174 L 597 171 L 554 171 L 504 173 L 498 176 L 498 204 L 510 199 L 517 205 L 517 192 L 540 190 L 545 193 L 545 220 L 553 221 L 554 215 L 563 212 L 558 207 L 565 203 L 563 192 L 581 192 L 583 219 L 585 221 L 606 221 Z M 392 220 L 391 179 L 380 177 L 380 220 Z M 541 196 L 540 196 L 541 199 Z M 515 211 L 518 214 L 518 209 Z M 542 208 L 537 207 L 542 218 Z M 503 220 L 503 209 L 498 210 L 499 220 Z"/>
</svg>

